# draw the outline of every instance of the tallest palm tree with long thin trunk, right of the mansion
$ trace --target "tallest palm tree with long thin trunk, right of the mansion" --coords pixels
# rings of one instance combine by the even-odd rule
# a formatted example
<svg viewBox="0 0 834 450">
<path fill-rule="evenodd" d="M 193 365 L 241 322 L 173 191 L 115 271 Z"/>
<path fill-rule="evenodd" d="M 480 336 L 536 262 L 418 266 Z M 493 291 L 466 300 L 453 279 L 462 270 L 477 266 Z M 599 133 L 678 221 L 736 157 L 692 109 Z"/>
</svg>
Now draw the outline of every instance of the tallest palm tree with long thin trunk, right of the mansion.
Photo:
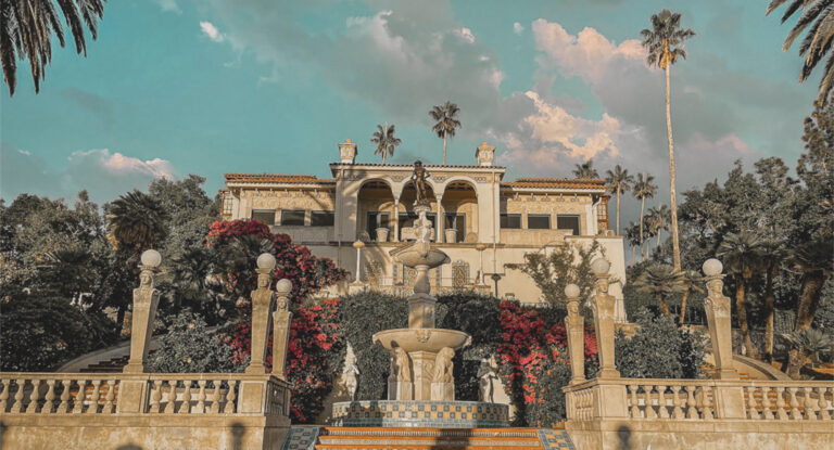
<svg viewBox="0 0 834 450">
<path fill-rule="evenodd" d="M 666 74 L 666 133 L 669 140 L 669 182 L 670 205 L 672 208 L 672 260 L 674 270 L 681 270 L 681 246 L 678 242 L 678 201 L 674 191 L 674 140 L 672 139 L 671 91 L 669 89 L 669 70 L 678 59 L 686 59 L 686 51 L 680 46 L 683 41 L 695 36 L 692 29 L 681 28 L 681 14 L 664 9 L 652 15 L 652 29 L 640 31 L 643 47 L 648 50 L 646 63 L 657 65 Z"/>
</svg>

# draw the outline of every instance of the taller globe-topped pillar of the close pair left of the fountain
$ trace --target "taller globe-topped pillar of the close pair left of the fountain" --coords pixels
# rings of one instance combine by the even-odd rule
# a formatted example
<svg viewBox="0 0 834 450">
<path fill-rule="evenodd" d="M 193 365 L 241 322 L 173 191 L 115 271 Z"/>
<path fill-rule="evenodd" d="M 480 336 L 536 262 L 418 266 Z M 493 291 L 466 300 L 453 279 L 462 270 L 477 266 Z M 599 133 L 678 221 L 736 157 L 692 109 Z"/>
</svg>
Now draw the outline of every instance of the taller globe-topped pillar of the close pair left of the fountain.
<svg viewBox="0 0 834 450">
<path fill-rule="evenodd" d="M 257 290 L 252 292 L 252 352 L 247 373 L 266 373 L 266 343 L 269 338 L 269 322 L 273 304 L 273 291 L 269 282 L 275 269 L 275 257 L 268 253 L 257 257 Z"/>
</svg>

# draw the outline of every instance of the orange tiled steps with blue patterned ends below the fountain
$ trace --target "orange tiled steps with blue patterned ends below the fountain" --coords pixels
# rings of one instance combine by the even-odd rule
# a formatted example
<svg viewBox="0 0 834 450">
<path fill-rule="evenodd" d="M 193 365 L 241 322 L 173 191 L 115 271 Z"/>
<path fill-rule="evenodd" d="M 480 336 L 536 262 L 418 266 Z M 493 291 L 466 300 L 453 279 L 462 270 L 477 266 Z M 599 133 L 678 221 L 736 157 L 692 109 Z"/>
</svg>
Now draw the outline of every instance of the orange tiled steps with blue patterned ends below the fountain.
<svg viewBox="0 0 834 450">
<path fill-rule="evenodd" d="M 293 426 L 285 450 L 576 450 L 564 429 Z"/>
</svg>

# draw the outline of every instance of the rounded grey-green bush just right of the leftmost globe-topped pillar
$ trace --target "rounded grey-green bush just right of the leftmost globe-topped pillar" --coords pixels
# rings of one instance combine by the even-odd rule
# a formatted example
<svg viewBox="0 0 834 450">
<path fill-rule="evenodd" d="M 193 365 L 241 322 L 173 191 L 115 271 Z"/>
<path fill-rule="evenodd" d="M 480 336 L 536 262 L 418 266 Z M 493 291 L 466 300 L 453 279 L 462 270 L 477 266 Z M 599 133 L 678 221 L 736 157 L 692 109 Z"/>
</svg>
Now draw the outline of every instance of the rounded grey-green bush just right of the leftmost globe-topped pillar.
<svg viewBox="0 0 834 450">
<path fill-rule="evenodd" d="M 240 372 L 233 362 L 231 347 L 217 333 L 207 330 L 200 314 L 184 311 L 166 323 L 167 332 L 159 336 L 160 347 L 148 358 L 151 372 L 220 373 Z"/>
</svg>

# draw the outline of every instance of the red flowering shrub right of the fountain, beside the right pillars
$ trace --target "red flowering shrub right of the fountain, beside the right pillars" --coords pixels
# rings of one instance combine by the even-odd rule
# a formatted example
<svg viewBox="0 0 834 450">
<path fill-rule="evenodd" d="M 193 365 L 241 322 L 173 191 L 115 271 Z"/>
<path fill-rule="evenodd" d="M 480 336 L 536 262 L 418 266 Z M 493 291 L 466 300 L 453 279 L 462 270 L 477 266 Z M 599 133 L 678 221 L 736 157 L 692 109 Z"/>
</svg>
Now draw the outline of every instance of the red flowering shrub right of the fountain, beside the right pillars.
<svg viewBox="0 0 834 450">
<path fill-rule="evenodd" d="M 510 398 L 517 406 L 554 402 L 551 391 L 556 389 L 541 378 L 549 380 L 555 368 L 570 364 L 565 322 L 548 323 L 542 311 L 515 301 L 502 301 L 500 311 L 502 343 L 496 360 Z M 590 325 L 585 326 L 584 348 L 585 363 L 595 365 L 596 338 Z"/>
</svg>

